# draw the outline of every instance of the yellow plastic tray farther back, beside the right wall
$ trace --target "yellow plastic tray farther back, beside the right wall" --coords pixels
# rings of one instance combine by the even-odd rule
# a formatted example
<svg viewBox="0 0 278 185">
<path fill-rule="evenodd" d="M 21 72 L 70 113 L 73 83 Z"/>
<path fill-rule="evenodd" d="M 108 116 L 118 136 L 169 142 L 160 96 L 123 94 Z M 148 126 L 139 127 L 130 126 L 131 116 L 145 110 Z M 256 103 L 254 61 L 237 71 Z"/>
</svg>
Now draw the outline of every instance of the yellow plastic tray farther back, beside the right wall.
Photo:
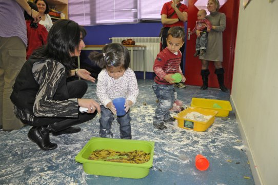
<svg viewBox="0 0 278 185">
<path fill-rule="evenodd" d="M 213 104 L 217 104 L 222 108 L 214 108 Z M 230 101 L 205 98 L 192 98 L 191 107 L 198 107 L 218 111 L 216 117 L 227 117 L 229 115 L 229 112 L 232 110 Z"/>
</svg>

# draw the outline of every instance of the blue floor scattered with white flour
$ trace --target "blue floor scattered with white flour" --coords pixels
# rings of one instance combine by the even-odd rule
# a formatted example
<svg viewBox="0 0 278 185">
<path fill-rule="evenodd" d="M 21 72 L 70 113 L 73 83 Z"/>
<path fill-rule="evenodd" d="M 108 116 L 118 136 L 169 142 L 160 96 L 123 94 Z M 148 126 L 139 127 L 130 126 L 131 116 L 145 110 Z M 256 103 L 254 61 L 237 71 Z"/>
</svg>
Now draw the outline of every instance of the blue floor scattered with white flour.
<svg viewBox="0 0 278 185">
<path fill-rule="evenodd" d="M 81 124 L 80 133 L 51 135 L 50 140 L 58 144 L 53 151 L 42 151 L 28 139 L 30 126 L 11 132 L 0 130 L 0 184 L 254 184 L 233 111 L 227 118 L 216 117 L 205 132 L 181 129 L 177 121 L 167 124 L 166 130 L 156 130 L 152 125 L 157 104 L 152 83 L 153 80 L 138 79 L 140 94 L 131 109 L 132 139 L 155 142 L 153 167 L 147 177 L 89 175 L 74 160 L 91 137 L 98 137 L 97 116 Z M 88 84 L 85 96 L 95 98 L 96 84 Z M 229 100 L 229 93 L 199 88 L 176 88 L 177 98 L 185 105 L 190 105 L 192 97 Z M 116 122 L 112 128 L 114 137 L 120 138 Z M 210 162 L 206 171 L 195 168 L 195 155 L 199 153 Z"/>
</svg>

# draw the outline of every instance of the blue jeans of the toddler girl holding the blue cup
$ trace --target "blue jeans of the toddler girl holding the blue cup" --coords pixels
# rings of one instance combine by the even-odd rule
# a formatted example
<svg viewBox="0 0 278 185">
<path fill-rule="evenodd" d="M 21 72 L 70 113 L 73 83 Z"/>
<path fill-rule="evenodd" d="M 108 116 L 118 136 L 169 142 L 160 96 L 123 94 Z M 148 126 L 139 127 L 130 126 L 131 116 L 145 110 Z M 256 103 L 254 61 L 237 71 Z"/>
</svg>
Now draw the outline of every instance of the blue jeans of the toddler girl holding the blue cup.
<svg viewBox="0 0 278 185">
<path fill-rule="evenodd" d="M 110 109 L 101 106 L 101 118 L 100 118 L 100 137 L 113 138 L 111 132 L 111 125 L 114 120 L 114 115 Z M 122 139 L 131 139 L 131 117 L 129 111 L 124 116 L 117 116 L 117 122 L 120 124 L 120 136 Z"/>
</svg>

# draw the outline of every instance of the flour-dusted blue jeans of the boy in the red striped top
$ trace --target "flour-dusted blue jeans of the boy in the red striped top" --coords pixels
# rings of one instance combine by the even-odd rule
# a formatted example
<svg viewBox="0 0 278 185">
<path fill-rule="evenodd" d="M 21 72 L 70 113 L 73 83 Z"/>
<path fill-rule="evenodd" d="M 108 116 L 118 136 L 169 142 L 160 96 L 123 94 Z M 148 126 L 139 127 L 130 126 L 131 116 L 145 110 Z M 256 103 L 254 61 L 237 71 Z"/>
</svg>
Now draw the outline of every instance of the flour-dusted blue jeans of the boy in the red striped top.
<svg viewBox="0 0 278 185">
<path fill-rule="evenodd" d="M 152 89 L 158 99 L 158 106 L 153 117 L 153 125 L 158 126 L 163 120 L 171 118 L 170 109 L 175 101 L 174 86 L 154 83 Z"/>
</svg>

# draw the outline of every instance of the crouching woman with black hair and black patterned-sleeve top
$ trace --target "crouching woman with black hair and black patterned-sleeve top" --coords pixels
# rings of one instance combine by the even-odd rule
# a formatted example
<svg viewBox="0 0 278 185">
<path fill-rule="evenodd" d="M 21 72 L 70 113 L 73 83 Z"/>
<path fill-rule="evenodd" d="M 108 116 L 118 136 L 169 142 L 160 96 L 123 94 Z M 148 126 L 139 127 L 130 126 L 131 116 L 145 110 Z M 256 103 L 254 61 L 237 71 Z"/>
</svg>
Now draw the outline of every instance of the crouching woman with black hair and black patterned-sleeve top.
<svg viewBox="0 0 278 185">
<path fill-rule="evenodd" d="M 10 96 L 17 118 L 29 126 L 30 140 L 42 150 L 57 148 L 50 142 L 53 135 L 76 133 L 74 125 L 95 117 L 101 111 L 93 99 L 82 98 L 88 85 L 85 80 L 67 82 L 77 75 L 94 82 L 85 69 L 74 70 L 74 56 L 85 47 L 84 28 L 72 20 L 58 20 L 50 29 L 47 45 L 35 50 L 19 72 Z M 88 108 L 78 112 L 78 106 Z"/>
</svg>

